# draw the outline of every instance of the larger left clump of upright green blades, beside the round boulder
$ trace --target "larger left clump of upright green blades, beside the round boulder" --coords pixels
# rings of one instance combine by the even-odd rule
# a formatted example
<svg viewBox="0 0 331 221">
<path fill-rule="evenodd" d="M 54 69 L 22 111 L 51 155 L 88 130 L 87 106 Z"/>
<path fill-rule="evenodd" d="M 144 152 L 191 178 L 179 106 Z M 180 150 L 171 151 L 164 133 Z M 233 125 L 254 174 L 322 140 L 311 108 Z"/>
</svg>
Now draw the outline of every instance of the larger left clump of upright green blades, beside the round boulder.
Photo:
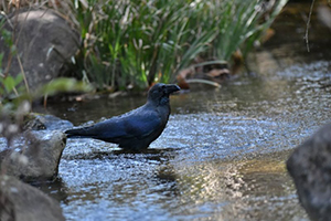
<svg viewBox="0 0 331 221">
<path fill-rule="evenodd" d="M 145 88 L 154 81 L 169 82 L 215 38 L 214 31 L 202 31 L 190 20 L 199 18 L 199 11 L 186 1 L 89 4 L 87 12 L 78 13 L 78 21 L 87 42 L 85 67 L 99 87 L 131 84 Z"/>
</svg>

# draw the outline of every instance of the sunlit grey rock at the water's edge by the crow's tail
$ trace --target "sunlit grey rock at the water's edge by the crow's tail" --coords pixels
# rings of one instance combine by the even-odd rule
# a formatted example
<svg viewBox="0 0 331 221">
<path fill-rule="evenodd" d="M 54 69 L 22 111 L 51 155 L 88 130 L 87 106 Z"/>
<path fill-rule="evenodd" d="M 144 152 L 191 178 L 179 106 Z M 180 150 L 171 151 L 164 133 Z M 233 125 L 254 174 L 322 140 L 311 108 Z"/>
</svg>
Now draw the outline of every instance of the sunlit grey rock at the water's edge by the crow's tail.
<svg viewBox="0 0 331 221">
<path fill-rule="evenodd" d="M 17 139 L 10 149 L 6 149 L 6 140 L 0 139 L 0 149 L 3 149 L 0 152 L 1 169 L 4 169 L 7 175 L 24 180 L 54 178 L 57 176 L 66 136 L 58 130 L 26 133 L 23 138 Z"/>
</svg>

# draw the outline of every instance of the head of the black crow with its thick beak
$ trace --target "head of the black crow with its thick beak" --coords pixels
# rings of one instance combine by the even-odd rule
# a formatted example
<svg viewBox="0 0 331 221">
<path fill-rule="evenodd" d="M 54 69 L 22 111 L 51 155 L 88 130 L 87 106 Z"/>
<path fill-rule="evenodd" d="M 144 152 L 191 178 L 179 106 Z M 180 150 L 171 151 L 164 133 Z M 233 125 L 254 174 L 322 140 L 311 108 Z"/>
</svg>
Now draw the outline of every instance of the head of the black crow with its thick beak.
<svg viewBox="0 0 331 221">
<path fill-rule="evenodd" d="M 158 104 L 166 104 L 169 102 L 169 95 L 173 92 L 178 92 L 181 88 L 175 84 L 162 84 L 158 83 L 153 85 L 148 92 L 148 101 Z"/>
</svg>

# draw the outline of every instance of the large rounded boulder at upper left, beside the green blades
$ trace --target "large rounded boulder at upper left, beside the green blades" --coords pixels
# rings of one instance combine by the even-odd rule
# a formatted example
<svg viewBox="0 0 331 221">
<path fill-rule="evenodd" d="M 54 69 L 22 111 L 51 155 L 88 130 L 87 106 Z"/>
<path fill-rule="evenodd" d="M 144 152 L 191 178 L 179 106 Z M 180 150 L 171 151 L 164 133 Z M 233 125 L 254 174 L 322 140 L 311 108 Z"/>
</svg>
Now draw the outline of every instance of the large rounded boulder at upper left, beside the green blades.
<svg viewBox="0 0 331 221">
<path fill-rule="evenodd" d="M 36 88 L 38 85 L 67 72 L 71 57 L 79 46 L 79 35 L 70 24 L 50 9 L 15 14 L 13 12 L 4 29 L 14 33 L 14 42 L 18 40 L 17 52 L 30 87 Z M 4 70 L 10 60 L 9 51 L 4 40 L 0 38 L 0 52 L 4 52 Z M 9 74 L 15 76 L 19 73 L 21 69 L 14 55 Z"/>
</svg>

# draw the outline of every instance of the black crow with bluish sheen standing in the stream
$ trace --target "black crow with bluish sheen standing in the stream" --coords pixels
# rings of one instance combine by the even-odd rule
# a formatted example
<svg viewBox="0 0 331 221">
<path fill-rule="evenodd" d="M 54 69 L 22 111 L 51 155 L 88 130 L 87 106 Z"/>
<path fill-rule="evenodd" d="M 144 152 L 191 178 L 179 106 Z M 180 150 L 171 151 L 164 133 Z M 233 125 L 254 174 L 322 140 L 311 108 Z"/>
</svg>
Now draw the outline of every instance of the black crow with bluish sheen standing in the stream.
<svg viewBox="0 0 331 221">
<path fill-rule="evenodd" d="M 156 84 L 148 92 L 147 103 L 137 109 L 65 134 L 118 144 L 129 150 L 147 149 L 163 131 L 170 115 L 169 95 L 177 91 L 180 87 L 174 84 Z"/>
</svg>

